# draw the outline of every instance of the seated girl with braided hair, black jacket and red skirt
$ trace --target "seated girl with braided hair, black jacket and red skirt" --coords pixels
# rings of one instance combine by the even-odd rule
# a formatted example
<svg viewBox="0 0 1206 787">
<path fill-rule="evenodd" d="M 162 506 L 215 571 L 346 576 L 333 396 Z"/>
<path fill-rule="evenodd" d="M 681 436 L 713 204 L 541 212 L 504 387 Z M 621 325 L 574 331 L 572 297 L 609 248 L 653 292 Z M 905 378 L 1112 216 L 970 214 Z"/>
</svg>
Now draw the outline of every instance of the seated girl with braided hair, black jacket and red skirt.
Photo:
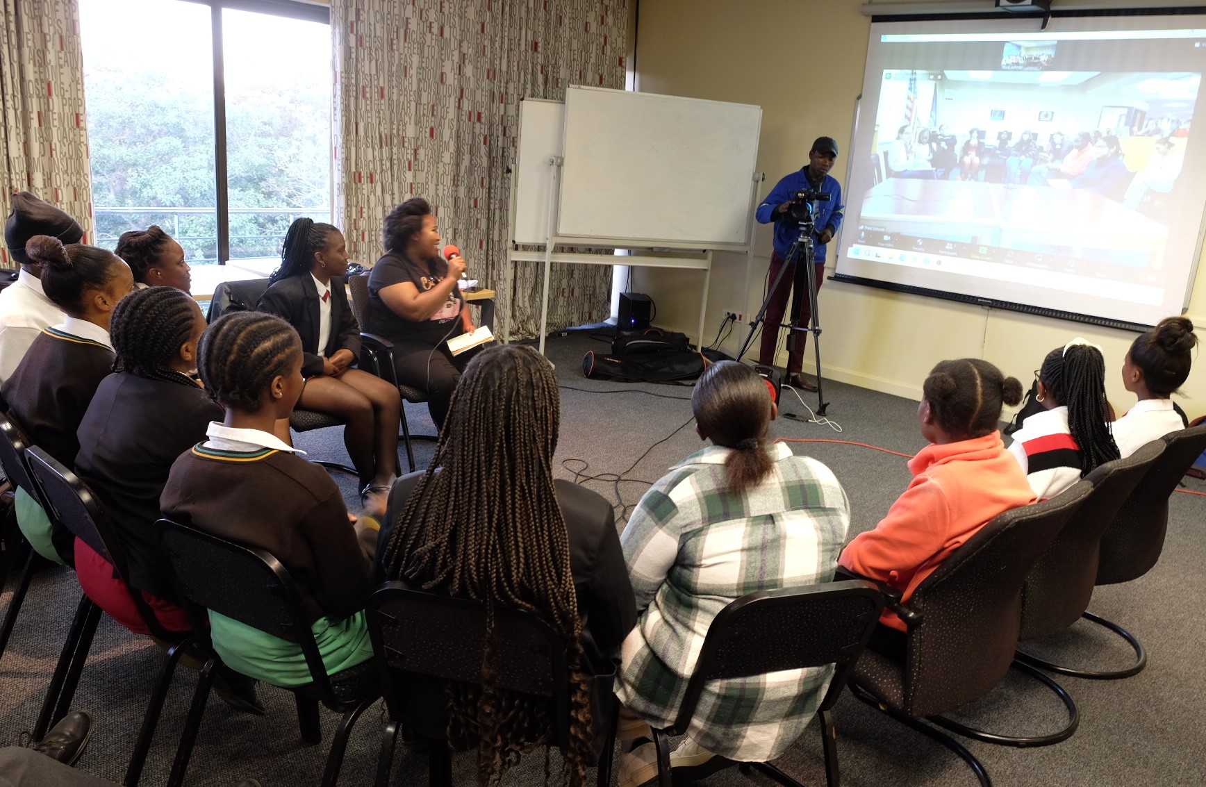
<svg viewBox="0 0 1206 787">
<path fill-rule="evenodd" d="M 205 439 L 211 421 L 222 419 L 222 407 L 188 376 L 197 369 L 204 330 L 200 306 L 180 289 L 151 287 L 127 295 L 110 323 L 116 374 L 96 388 L 77 433 L 76 472 L 105 506 L 125 580 L 175 632 L 189 626 L 176 605 L 154 523 L 176 457 Z M 93 601 L 131 632 L 150 634 L 101 556 L 77 539 L 75 560 Z"/>
</svg>

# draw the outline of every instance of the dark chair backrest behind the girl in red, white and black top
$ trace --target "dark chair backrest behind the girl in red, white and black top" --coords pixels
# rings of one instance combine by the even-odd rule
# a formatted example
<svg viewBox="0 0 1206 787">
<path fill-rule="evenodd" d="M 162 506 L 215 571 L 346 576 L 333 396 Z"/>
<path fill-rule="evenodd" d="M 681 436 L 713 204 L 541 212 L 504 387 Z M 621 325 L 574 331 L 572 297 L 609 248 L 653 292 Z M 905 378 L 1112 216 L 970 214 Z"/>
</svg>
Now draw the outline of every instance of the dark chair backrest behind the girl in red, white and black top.
<svg viewBox="0 0 1206 787">
<path fill-rule="evenodd" d="M 1089 609 L 1097 578 L 1101 534 L 1135 486 L 1164 453 L 1152 441 L 1126 457 L 1107 462 L 1085 476 L 1093 491 L 1030 570 L 1021 588 L 1021 640 L 1066 629 Z"/>
</svg>

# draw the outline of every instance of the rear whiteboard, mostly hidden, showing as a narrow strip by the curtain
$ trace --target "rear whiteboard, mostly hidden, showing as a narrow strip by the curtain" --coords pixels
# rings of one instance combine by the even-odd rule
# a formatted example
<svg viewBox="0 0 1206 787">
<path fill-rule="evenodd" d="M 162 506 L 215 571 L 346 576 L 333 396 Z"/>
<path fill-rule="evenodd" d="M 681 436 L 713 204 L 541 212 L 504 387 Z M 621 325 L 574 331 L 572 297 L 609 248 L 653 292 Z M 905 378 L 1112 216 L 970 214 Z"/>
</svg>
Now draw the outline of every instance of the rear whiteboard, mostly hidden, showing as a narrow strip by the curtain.
<svg viewBox="0 0 1206 787">
<path fill-rule="evenodd" d="M 520 101 L 519 155 L 515 160 L 515 237 L 516 243 L 543 246 L 549 239 L 549 199 L 551 166 L 549 159 L 561 155 L 564 105 L 561 101 L 523 99 Z"/>
</svg>

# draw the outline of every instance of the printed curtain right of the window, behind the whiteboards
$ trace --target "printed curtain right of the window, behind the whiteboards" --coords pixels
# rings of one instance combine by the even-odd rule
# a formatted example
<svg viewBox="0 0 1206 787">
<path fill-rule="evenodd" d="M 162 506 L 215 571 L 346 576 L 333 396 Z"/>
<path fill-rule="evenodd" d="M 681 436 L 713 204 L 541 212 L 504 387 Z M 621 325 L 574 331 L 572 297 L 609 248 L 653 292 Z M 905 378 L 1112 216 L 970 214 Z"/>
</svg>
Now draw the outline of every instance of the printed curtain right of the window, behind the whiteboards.
<svg viewBox="0 0 1206 787">
<path fill-rule="evenodd" d="M 544 265 L 507 271 L 519 102 L 622 88 L 628 12 L 627 0 L 333 0 L 335 204 L 352 259 L 375 262 L 385 215 L 425 196 L 469 276 L 498 292 L 511 337 L 534 336 Z M 605 319 L 610 287 L 610 265 L 554 265 L 549 329 Z"/>
</svg>

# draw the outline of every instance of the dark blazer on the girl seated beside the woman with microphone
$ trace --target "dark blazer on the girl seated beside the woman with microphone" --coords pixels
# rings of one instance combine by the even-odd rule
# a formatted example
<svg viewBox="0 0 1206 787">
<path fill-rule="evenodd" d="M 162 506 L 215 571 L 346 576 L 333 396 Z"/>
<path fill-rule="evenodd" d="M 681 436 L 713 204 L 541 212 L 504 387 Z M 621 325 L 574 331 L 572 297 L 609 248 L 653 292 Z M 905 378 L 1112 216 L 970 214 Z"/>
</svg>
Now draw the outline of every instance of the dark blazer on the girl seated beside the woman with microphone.
<svg viewBox="0 0 1206 787">
<path fill-rule="evenodd" d="M 315 377 L 326 368 L 318 356 L 318 288 L 308 272 L 289 276 L 274 283 L 259 298 L 259 311 L 285 318 L 302 336 L 302 374 Z M 343 276 L 330 278 L 330 337 L 323 356 L 330 358 L 340 350 L 361 357 L 361 325 L 347 303 Z M 355 363 L 355 362 L 353 362 Z"/>
</svg>

